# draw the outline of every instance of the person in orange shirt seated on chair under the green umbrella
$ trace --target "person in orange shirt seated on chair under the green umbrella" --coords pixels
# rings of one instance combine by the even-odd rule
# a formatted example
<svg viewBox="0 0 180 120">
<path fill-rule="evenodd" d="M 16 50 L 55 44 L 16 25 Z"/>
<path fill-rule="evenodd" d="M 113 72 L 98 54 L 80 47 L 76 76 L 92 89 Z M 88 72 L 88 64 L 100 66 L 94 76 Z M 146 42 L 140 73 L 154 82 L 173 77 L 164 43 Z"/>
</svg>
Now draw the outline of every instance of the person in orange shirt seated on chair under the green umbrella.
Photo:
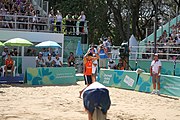
<svg viewBox="0 0 180 120">
<path fill-rule="evenodd" d="M 11 54 L 10 53 L 8 53 L 8 57 L 7 57 L 6 61 L 5 61 L 4 70 L 5 70 L 5 76 L 7 76 L 7 70 L 11 70 L 11 76 L 13 76 L 14 61 L 11 58 Z"/>
</svg>

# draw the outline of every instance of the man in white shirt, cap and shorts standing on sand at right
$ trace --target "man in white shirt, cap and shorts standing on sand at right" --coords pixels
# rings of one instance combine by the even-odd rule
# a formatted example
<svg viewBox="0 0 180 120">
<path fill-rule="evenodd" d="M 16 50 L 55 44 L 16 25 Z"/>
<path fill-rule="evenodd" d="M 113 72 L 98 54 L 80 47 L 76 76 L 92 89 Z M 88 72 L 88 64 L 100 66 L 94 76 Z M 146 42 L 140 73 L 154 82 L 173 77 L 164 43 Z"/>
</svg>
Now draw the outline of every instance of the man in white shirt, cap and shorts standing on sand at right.
<svg viewBox="0 0 180 120">
<path fill-rule="evenodd" d="M 153 91 L 152 94 L 160 95 L 160 73 L 161 73 L 161 61 L 158 59 L 158 54 L 154 54 L 154 60 L 151 62 L 150 75 L 152 76 Z M 158 90 L 156 91 L 156 83 Z"/>
</svg>

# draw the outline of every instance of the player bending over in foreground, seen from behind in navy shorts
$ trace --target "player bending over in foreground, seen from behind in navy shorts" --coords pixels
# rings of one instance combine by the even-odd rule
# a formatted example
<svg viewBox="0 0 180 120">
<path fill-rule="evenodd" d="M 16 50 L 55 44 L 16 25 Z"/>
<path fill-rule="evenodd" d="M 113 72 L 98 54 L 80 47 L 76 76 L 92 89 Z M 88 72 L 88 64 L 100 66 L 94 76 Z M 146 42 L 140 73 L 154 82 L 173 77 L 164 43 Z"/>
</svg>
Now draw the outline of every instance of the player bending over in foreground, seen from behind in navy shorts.
<svg viewBox="0 0 180 120">
<path fill-rule="evenodd" d="M 111 100 L 109 91 L 104 85 L 92 83 L 83 91 L 81 97 L 88 113 L 88 120 L 106 120 Z"/>
</svg>

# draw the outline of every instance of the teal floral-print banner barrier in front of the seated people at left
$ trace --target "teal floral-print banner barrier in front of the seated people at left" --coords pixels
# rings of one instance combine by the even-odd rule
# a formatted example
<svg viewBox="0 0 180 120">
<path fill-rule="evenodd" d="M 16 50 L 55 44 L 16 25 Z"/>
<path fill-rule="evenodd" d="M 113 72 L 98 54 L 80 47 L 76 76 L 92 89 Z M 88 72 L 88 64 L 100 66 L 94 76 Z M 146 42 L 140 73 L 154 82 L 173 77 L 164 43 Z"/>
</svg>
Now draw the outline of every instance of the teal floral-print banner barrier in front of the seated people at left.
<svg viewBox="0 0 180 120">
<path fill-rule="evenodd" d="M 75 84 L 74 67 L 38 67 L 27 68 L 25 83 L 29 85 Z"/>
</svg>

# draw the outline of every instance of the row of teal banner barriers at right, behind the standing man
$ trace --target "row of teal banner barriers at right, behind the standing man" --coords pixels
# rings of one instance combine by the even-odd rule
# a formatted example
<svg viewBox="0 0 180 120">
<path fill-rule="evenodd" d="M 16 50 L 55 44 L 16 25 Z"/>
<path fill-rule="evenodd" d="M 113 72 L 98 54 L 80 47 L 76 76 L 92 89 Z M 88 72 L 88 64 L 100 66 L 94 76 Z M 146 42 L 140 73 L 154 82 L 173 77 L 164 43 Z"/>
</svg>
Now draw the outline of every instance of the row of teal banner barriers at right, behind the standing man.
<svg viewBox="0 0 180 120">
<path fill-rule="evenodd" d="M 137 74 L 136 71 L 100 69 L 98 81 L 108 87 L 117 87 L 139 92 L 153 90 L 152 77 L 149 73 Z M 161 94 L 180 97 L 180 77 L 161 75 Z"/>
</svg>

